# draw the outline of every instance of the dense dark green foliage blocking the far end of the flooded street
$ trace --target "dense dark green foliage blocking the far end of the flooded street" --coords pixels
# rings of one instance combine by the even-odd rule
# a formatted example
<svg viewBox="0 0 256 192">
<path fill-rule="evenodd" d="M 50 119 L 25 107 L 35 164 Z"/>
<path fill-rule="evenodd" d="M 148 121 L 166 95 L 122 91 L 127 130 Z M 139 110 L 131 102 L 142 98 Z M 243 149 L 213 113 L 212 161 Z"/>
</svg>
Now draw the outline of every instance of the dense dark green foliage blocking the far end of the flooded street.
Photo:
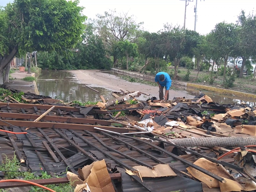
<svg viewBox="0 0 256 192">
<path fill-rule="evenodd" d="M 65 52 L 39 52 L 38 65 L 49 70 L 109 69 L 111 60 L 106 56 L 102 39 L 94 35 L 92 24 L 88 24 L 76 50 Z"/>
</svg>

